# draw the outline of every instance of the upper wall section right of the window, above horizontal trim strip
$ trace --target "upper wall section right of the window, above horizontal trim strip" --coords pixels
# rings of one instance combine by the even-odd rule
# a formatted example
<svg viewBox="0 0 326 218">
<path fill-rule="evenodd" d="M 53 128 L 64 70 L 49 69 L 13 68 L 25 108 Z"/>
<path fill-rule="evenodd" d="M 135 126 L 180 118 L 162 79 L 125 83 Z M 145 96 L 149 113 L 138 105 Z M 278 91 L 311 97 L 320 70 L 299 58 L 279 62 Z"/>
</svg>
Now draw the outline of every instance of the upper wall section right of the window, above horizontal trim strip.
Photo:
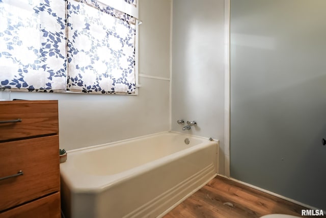
<svg viewBox="0 0 326 218">
<path fill-rule="evenodd" d="M 140 74 L 170 78 L 172 0 L 140 0 Z"/>
</svg>

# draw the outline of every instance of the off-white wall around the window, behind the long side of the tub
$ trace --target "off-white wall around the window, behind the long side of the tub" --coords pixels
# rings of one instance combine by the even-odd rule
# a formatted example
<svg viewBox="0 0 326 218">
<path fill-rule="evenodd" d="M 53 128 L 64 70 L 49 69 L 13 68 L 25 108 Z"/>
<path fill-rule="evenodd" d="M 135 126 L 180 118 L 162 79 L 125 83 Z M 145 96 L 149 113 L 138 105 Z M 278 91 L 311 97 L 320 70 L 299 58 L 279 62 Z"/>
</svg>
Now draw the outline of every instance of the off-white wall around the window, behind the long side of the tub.
<svg viewBox="0 0 326 218">
<path fill-rule="evenodd" d="M 140 72 L 169 77 L 171 3 L 139 4 Z M 11 98 L 59 100 L 60 147 L 72 150 L 170 130 L 170 81 L 141 77 L 140 84 L 137 96 L 12 92 Z"/>
</svg>

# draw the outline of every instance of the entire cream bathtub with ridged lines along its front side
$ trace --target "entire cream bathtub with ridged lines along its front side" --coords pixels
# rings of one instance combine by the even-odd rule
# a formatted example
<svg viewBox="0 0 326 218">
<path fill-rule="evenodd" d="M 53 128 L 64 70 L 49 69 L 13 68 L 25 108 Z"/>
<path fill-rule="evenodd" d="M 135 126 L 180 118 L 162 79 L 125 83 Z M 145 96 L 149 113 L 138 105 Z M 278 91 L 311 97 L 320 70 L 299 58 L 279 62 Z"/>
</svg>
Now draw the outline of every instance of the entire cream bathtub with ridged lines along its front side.
<svg viewBox="0 0 326 218">
<path fill-rule="evenodd" d="M 62 209 L 67 218 L 160 216 L 216 175 L 218 143 L 165 132 L 70 151 Z"/>
</svg>

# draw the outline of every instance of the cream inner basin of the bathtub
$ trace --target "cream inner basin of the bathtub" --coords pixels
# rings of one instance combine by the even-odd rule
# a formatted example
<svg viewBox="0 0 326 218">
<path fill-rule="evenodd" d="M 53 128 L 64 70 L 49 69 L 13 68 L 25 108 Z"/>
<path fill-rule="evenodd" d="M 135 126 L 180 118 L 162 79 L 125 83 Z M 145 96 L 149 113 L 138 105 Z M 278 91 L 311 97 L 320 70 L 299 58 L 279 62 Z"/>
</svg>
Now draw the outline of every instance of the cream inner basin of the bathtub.
<svg viewBox="0 0 326 218">
<path fill-rule="evenodd" d="M 189 144 L 184 139 L 189 139 Z M 74 166 L 88 175 L 114 175 L 133 167 L 141 166 L 162 157 L 191 148 L 203 139 L 192 136 L 180 136 L 176 133 L 154 135 L 145 138 L 114 143 L 105 149 L 94 148 L 78 153 L 74 158 Z M 155 143 L 155 146 L 153 146 Z"/>
</svg>

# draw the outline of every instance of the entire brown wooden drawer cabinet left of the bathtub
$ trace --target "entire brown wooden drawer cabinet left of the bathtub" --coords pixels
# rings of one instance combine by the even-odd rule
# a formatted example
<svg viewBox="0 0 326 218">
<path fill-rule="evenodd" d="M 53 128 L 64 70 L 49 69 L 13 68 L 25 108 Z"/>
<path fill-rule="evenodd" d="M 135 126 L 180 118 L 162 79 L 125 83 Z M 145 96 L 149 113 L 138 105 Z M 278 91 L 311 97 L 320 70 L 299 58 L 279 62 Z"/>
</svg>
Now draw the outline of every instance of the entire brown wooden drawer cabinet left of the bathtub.
<svg viewBox="0 0 326 218">
<path fill-rule="evenodd" d="M 0 218 L 59 218 L 58 101 L 0 102 Z"/>
</svg>

